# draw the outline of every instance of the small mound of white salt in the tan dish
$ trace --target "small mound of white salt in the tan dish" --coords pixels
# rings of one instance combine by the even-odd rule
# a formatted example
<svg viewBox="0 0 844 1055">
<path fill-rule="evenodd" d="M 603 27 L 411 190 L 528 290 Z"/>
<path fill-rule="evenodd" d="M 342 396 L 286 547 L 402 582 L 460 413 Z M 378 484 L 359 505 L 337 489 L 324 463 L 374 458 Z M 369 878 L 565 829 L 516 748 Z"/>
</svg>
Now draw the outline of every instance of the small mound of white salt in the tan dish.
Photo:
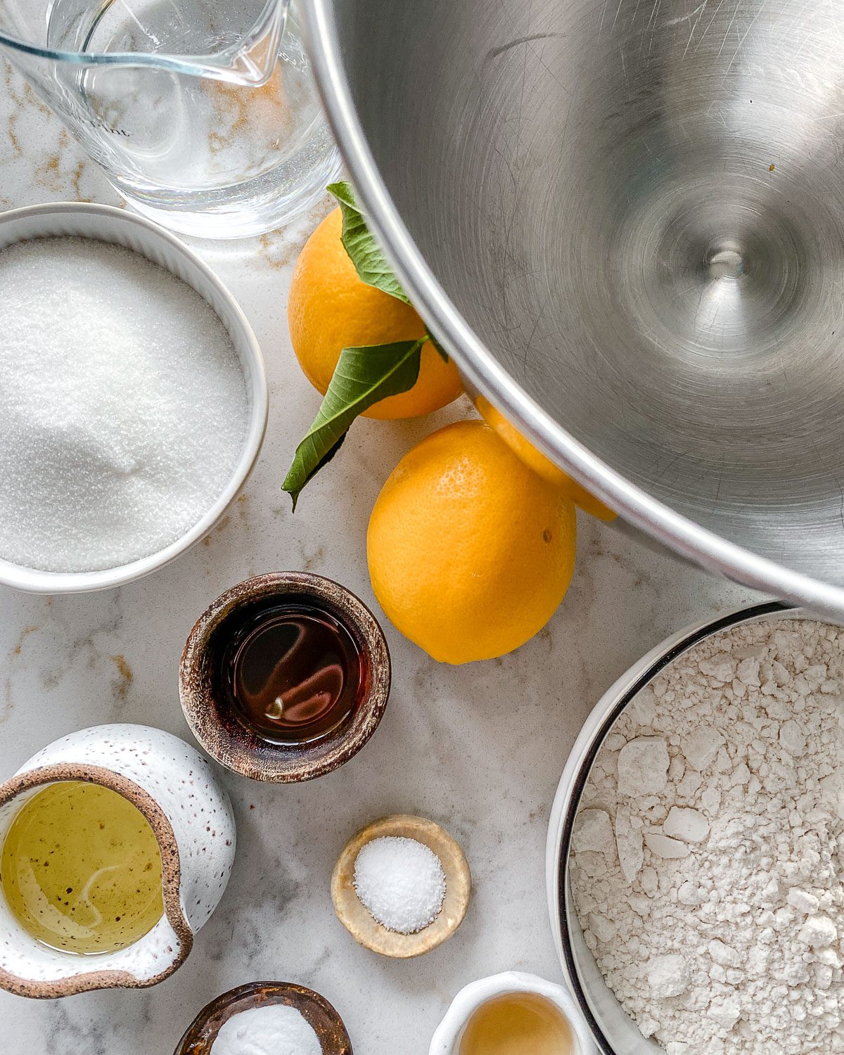
<svg viewBox="0 0 844 1055">
<path fill-rule="evenodd" d="M 440 914 L 445 872 L 440 859 L 423 843 L 383 836 L 358 853 L 354 889 L 382 926 L 399 934 L 416 934 Z"/>
</svg>

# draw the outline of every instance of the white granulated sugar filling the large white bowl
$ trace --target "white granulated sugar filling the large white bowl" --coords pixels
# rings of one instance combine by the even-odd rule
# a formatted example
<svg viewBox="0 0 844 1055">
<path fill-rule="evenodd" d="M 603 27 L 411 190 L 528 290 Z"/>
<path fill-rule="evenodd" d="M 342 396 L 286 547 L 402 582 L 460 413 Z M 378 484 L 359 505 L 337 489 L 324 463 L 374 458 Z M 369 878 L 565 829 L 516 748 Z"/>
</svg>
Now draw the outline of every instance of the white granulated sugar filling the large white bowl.
<svg viewBox="0 0 844 1055">
<path fill-rule="evenodd" d="M 243 447 L 231 340 L 193 289 L 88 238 L 0 252 L 0 557 L 114 568 L 178 539 Z"/>
</svg>

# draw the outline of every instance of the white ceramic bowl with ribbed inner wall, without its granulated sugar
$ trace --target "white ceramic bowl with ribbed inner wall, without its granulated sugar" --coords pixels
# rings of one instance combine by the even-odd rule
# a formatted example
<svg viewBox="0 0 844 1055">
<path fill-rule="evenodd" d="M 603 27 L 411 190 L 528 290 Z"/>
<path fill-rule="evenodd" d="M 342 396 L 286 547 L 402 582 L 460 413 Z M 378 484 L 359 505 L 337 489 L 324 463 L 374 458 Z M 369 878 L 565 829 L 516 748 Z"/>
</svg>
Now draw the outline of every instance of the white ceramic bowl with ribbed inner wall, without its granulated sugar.
<svg viewBox="0 0 844 1055">
<path fill-rule="evenodd" d="M 199 541 L 219 520 L 251 473 L 261 450 L 268 413 L 264 362 L 244 312 L 213 271 L 178 238 L 141 216 L 111 206 L 60 203 L 0 214 L 0 252 L 16 243 L 53 237 L 93 238 L 121 246 L 195 290 L 228 332 L 243 371 L 248 409 L 245 437 L 228 480 L 193 525 L 168 544 L 118 567 L 93 571 L 44 571 L 0 558 L 0 583 L 46 594 L 104 590 L 131 582 L 162 568 Z"/>
</svg>

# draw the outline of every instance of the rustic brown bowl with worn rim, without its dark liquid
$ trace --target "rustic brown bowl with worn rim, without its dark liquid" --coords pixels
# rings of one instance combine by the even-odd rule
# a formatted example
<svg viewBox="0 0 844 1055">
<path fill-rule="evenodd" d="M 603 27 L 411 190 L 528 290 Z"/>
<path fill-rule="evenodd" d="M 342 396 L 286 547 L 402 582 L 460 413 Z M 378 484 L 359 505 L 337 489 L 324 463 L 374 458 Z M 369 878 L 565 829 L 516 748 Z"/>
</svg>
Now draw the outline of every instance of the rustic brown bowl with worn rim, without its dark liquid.
<svg viewBox="0 0 844 1055">
<path fill-rule="evenodd" d="M 362 659 L 362 684 L 349 720 L 324 740 L 301 746 L 272 744 L 251 732 L 213 690 L 228 640 L 225 624 L 267 598 L 304 600 L 323 608 L 351 633 Z M 330 773 L 369 740 L 387 706 L 390 661 L 384 632 L 369 609 L 345 587 L 307 572 L 273 572 L 231 587 L 199 616 L 179 669 L 179 698 L 191 732 L 211 757 L 255 781 L 290 783 Z"/>
</svg>

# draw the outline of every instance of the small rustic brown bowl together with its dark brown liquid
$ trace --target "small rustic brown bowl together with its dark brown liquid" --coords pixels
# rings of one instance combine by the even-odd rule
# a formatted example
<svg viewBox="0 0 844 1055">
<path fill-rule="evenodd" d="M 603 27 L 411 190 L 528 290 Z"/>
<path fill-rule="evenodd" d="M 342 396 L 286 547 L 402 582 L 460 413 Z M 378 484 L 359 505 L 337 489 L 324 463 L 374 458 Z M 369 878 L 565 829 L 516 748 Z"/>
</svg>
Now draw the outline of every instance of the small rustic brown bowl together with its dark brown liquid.
<svg viewBox="0 0 844 1055">
<path fill-rule="evenodd" d="M 363 748 L 387 706 L 390 658 L 376 617 L 332 579 L 273 572 L 199 616 L 179 669 L 194 736 L 232 772 L 313 780 Z"/>
</svg>

